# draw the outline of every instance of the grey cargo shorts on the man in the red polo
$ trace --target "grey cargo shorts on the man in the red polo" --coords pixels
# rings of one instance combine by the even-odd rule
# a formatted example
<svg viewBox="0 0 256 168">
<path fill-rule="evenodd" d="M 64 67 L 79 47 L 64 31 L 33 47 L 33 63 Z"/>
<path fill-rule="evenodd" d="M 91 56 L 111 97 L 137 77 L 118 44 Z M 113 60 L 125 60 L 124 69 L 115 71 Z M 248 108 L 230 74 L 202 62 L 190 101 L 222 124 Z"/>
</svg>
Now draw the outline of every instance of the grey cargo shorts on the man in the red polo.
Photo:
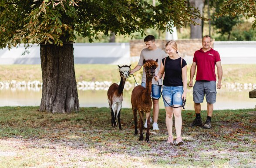
<svg viewBox="0 0 256 168">
<path fill-rule="evenodd" d="M 216 81 L 195 81 L 193 87 L 193 101 L 202 103 L 204 97 L 206 102 L 213 104 L 216 102 Z"/>
</svg>

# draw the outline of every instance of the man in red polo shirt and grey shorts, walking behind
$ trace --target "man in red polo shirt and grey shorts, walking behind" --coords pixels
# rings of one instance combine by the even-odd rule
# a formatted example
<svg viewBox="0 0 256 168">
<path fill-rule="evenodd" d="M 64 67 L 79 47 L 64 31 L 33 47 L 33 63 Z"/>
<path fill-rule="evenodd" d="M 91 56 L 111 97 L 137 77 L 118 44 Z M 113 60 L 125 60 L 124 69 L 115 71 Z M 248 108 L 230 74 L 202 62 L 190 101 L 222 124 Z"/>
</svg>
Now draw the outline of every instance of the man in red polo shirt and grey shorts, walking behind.
<svg viewBox="0 0 256 168">
<path fill-rule="evenodd" d="M 216 102 L 216 74 L 217 67 L 218 84 L 217 89 L 221 88 L 222 66 L 220 63 L 219 52 L 211 48 L 212 39 L 210 36 L 202 38 L 202 48 L 194 54 L 193 63 L 190 68 L 189 87 L 193 86 L 195 68 L 197 66 L 195 85 L 193 87 L 193 100 L 195 103 L 195 120 L 190 126 L 202 126 L 201 104 L 204 97 L 207 102 L 207 119 L 204 128 L 211 128 L 213 103 Z"/>
</svg>

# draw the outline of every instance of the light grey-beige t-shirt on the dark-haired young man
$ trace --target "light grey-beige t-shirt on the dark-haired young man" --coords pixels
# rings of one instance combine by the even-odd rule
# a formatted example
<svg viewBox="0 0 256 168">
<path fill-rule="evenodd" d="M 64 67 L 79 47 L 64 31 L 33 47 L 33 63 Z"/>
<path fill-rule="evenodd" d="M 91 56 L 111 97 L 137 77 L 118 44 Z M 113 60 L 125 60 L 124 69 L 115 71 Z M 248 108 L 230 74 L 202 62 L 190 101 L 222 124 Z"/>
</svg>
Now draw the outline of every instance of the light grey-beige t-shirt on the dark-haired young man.
<svg viewBox="0 0 256 168">
<path fill-rule="evenodd" d="M 158 62 L 157 62 L 158 67 L 155 70 L 155 74 L 158 74 L 158 72 L 160 71 L 161 61 L 165 57 L 166 57 L 166 53 L 162 49 L 157 48 L 155 50 L 150 50 L 148 48 L 144 48 L 141 51 L 141 56 L 140 56 L 140 60 L 138 61 L 138 65 L 143 66 L 143 59 L 145 59 L 145 60 L 158 59 Z M 143 74 L 142 74 L 141 82 L 146 82 L 146 73 L 145 73 L 144 67 L 143 67 Z M 157 81 L 155 81 L 155 78 L 152 79 L 152 84 L 158 84 Z M 162 78 L 159 79 L 159 84 L 160 85 L 163 84 Z"/>
</svg>

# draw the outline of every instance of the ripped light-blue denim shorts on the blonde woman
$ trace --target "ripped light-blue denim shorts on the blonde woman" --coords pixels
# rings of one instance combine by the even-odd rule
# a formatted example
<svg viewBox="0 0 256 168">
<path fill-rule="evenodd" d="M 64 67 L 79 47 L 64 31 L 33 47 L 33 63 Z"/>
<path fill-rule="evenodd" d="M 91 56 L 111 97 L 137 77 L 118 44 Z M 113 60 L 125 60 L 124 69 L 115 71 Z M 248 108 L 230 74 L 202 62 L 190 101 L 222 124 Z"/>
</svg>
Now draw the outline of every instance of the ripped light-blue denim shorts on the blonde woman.
<svg viewBox="0 0 256 168">
<path fill-rule="evenodd" d="M 183 86 L 165 86 L 163 85 L 163 97 L 171 106 L 179 105 L 182 106 L 182 94 L 183 94 Z M 170 107 L 164 101 L 165 107 Z"/>
</svg>

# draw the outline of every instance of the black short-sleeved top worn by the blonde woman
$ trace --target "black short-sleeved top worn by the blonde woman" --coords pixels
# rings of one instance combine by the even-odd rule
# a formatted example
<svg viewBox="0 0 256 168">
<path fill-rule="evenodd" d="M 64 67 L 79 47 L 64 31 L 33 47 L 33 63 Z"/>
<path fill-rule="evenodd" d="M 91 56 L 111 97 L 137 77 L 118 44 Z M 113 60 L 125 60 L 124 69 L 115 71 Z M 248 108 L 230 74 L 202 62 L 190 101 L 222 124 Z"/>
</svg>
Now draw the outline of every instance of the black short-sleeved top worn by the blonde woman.
<svg viewBox="0 0 256 168">
<path fill-rule="evenodd" d="M 164 64 L 164 59 L 162 62 Z M 183 86 L 182 82 L 182 68 L 187 65 L 186 61 L 182 59 L 182 67 L 180 66 L 181 58 L 171 59 L 166 57 L 165 60 L 165 78 L 163 84 L 165 86 Z"/>
</svg>

